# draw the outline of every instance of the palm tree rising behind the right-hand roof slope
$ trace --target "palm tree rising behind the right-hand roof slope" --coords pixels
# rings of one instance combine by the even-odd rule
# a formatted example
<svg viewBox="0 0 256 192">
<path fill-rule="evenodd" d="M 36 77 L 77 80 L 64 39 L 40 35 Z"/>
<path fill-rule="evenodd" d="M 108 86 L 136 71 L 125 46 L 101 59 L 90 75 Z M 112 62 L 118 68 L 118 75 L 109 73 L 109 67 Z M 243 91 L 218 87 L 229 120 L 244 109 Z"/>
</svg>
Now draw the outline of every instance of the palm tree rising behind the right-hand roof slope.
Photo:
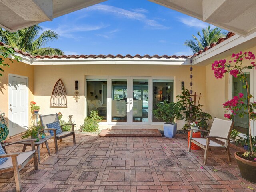
<svg viewBox="0 0 256 192">
<path fill-rule="evenodd" d="M 200 31 L 197 32 L 197 35 L 199 39 L 192 35 L 193 40 L 186 40 L 184 43 L 193 53 L 210 46 L 211 43 L 217 42 L 219 38 L 226 36 L 226 32 L 223 32 L 221 28 L 211 28 L 211 26 L 208 25 L 206 28 L 202 28 L 202 35 Z"/>
</svg>

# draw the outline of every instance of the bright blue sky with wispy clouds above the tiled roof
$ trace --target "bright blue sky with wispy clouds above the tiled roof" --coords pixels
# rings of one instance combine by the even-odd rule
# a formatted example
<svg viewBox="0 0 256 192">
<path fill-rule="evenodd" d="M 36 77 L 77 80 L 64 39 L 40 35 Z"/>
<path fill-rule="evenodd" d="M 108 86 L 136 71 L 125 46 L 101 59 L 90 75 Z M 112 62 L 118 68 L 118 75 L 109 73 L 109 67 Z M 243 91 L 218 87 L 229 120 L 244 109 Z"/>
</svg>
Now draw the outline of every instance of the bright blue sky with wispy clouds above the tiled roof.
<svg viewBox="0 0 256 192">
<path fill-rule="evenodd" d="M 108 0 L 40 24 L 60 35 L 48 46 L 78 55 L 190 55 L 184 42 L 207 25 L 147 0 Z"/>
</svg>

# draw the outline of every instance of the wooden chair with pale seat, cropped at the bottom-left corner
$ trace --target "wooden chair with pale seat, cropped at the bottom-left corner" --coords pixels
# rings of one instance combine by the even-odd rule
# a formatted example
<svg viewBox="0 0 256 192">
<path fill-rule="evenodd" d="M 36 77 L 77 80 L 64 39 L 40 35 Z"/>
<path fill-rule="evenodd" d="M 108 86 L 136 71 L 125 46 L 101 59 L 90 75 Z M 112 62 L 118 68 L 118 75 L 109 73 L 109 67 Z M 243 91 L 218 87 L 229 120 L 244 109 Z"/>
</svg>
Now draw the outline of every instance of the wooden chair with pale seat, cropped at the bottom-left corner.
<svg viewBox="0 0 256 192">
<path fill-rule="evenodd" d="M 30 140 L 21 140 L 18 142 L 8 143 L 2 145 L 4 151 L 6 152 L 6 146 L 10 146 L 13 144 L 19 144 L 21 142 L 30 142 L 32 151 L 22 152 L 22 153 L 7 153 L 0 155 L 0 158 L 3 157 L 11 157 L 8 158 L 6 162 L 0 165 L 0 173 L 10 172 L 13 170 L 14 172 L 14 178 L 15 178 L 15 184 L 16 184 L 16 191 L 20 192 L 22 190 L 21 184 L 20 184 L 20 170 L 24 168 L 24 166 L 28 163 L 28 161 L 31 158 L 34 158 L 34 166 L 35 170 L 38 169 L 37 159 L 36 159 L 36 149 L 35 149 L 35 140 L 36 139 L 30 139 Z"/>
</svg>

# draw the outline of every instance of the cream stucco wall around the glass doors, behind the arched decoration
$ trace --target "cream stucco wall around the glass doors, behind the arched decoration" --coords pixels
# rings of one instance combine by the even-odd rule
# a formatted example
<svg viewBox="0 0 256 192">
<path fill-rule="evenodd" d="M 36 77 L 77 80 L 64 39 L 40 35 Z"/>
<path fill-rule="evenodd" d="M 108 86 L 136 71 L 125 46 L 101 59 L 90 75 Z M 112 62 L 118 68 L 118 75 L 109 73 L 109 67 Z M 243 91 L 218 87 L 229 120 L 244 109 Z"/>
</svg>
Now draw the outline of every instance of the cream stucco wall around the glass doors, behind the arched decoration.
<svg viewBox="0 0 256 192">
<path fill-rule="evenodd" d="M 85 76 L 173 76 L 175 95 L 181 94 L 181 81 L 185 87 L 190 83 L 190 66 L 157 66 L 157 65 L 55 65 L 35 66 L 34 100 L 40 105 L 40 113 L 52 114 L 62 112 L 64 120 L 73 114 L 78 129 L 85 117 Z M 50 108 L 50 97 L 54 84 L 61 78 L 67 92 L 68 108 Z M 202 93 L 201 104 L 206 104 L 206 75 L 204 66 L 194 66 L 193 90 Z M 79 81 L 80 99 L 74 100 L 75 80 Z M 183 124 L 180 124 L 181 128 Z"/>
</svg>

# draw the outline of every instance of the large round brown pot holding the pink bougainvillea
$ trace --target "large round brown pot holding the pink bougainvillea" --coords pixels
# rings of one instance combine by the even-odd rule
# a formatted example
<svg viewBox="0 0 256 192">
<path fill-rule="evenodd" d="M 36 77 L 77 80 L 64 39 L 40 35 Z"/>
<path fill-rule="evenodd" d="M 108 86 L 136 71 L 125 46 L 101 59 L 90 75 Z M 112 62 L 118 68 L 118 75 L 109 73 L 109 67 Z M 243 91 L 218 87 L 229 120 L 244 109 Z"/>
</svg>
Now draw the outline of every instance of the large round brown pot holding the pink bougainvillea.
<svg viewBox="0 0 256 192">
<path fill-rule="evenodd" d="M 248 161 L 244 158 L 241 158 L 237 154 L 244 154 L 244 151 L 235 152 L 236 162 L 238 164 L 242 178 L 256 183 L 256 162 Z"/>
</svg>

